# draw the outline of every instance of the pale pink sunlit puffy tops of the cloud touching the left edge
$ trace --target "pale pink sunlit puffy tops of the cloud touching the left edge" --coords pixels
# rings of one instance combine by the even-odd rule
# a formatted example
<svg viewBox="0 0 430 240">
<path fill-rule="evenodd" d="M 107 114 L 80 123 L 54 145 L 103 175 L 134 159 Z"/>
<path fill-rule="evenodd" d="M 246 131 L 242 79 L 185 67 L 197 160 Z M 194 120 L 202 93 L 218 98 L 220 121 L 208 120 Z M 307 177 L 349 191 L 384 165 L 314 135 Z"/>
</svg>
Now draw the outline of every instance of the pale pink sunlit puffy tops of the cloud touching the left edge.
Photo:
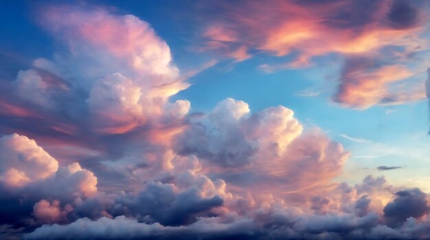
<svg viewBox="0 0 430 240">
<path fill-rule="evenodd" d="M 91 171 L 82 169 L 79 163 L 58 167 L 55 158 L 26 136 L 2 136 L 0 149 L 0 158 L 7 159 L 0 164 L 0 181 L 10 189 L 25 191 L 30 187 L 56 198 L 98 193 L 97 178 Z"/>
</svg>

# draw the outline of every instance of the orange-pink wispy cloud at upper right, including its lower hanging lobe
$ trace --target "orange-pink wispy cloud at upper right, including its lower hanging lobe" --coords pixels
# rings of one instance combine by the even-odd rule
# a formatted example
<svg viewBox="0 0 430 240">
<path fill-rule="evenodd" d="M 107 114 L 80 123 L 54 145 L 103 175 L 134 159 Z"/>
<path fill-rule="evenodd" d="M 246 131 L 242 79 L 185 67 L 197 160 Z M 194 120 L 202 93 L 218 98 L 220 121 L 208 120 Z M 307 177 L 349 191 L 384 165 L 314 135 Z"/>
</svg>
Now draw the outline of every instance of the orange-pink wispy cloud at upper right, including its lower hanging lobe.
<svg viewBox="0 0 430 240">
<path fill-rule="evenodd" d="M 260 65 L 268 73 L 339 56 L 345 62 L 332 99 L 348 108 L 425 98 L 420 86 L 392 90 L 402 80 L 420 85 L 412 73 L 421 71 L 416 70 L 421 68 L 420 56 L 429 46 L 429 9 L 422 1 L 220 1 L 215 8 L 223 14 L 205 18 L 204 50 L 227 58 L 234 58 L 229 53 L 238 48 L 291 57 L 290 62 Z"/>
</svg>

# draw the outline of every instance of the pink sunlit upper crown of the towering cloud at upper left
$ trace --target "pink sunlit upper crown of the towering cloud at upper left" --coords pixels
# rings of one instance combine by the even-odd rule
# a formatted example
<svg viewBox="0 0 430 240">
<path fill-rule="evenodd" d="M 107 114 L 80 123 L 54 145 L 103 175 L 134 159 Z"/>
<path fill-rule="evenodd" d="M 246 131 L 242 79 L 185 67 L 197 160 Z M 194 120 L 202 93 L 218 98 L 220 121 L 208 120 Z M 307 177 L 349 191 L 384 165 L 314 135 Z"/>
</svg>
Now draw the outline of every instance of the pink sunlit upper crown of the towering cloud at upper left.
<svg viewBox="0 0 430 240">
<path fill-rule="evenodd" d="M 94 47 L 95 53 L 104 53 L 106 62 L 93 58 L 103 67 L 98 71 L 106 71 L 106 64 L 112 62 L 111 71 L 122 67 L 126 70 L 124 74 L 133 74 L 129 77 L 159 75 L 157 80 L 161 82 L 158 84 L 175 81 L 174 77 L 179 74 L 177 67 L 171 64 L 168 45 L 155 34 L 148 23 L 136 16 L 120 16 L 102 8 L 71 5 L 48 6 L 40 16 L 41 25 L 53 34 L 63 34 L 69 47 L 74 50 Z M 83 57 L 89 56 L 84 54 Z"/>
</svg>

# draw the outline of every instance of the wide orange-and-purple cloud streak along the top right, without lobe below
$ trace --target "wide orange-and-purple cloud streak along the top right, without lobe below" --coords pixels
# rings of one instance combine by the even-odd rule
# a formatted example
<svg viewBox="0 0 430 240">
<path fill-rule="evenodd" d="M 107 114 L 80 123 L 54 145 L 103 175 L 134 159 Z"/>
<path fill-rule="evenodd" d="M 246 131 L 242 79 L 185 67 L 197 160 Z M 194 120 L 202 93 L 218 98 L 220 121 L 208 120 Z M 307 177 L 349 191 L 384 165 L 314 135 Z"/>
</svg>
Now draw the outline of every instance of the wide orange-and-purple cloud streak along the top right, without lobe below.
<svg viewBox="0 0 430 240">
<path fill-rule="evenodd" d="M 411 3 L 248 1 L 220 5 L 226 20 L 215 19 L 208 25 L 203 37 L 210 39 L 209 45 L 238 43 L 276 56 L 299 51 L 312 57 L 367 53 L 389 45 L 413 50 L 426 43 L 419 37 L 425 31 L 424 13 Z"/>
</svg>

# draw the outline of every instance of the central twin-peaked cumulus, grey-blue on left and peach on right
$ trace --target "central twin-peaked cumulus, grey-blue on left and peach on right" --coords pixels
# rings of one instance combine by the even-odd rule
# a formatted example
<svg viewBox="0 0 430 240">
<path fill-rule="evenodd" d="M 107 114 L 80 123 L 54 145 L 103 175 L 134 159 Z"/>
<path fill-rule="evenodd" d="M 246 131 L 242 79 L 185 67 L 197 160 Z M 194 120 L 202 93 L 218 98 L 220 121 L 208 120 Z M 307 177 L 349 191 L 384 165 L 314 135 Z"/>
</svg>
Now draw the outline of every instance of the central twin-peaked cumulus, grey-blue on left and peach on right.
<svg viewBox="0 0 430 240">
<path fill-rule="evenodd" d="M 261 151 L 283 152 L 302 132 L 293 111 L 278 106 L 249 114 L 244 101 L 228 98 L 192 123 L 177 140 L 179 154 L 196 154 L 212 163 L 235 167 L 251 163 Z M 255 162 L 255 161 L 254 161 Z"/>
</svg>

